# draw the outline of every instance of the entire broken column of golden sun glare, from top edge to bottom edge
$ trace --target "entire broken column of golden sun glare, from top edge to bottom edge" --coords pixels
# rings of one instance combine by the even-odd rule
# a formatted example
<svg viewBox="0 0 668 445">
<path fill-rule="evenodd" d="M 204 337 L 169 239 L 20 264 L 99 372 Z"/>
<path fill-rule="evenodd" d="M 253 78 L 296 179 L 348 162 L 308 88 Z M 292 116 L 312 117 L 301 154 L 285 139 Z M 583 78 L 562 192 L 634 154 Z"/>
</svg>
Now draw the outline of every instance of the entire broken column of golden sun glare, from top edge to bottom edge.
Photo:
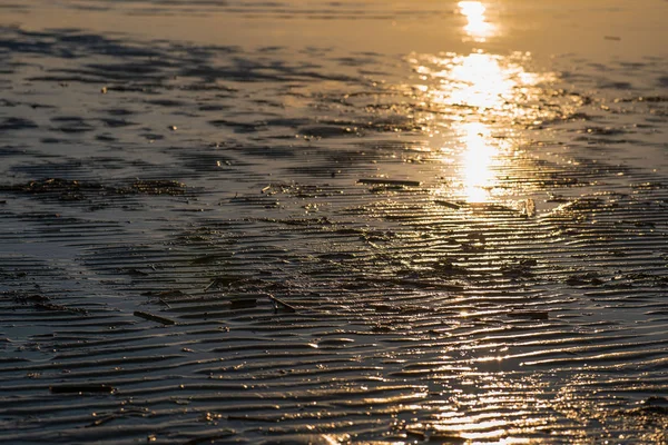
<svg viewBox="0 0 668 445">
<path fill-rule="evenodd" d="M 462 1 L 459 7 L 468 19 L 464 30 L 474 41 L 484 41 L 494 32 L 481 2 Z M 468 227 L 468 218 L 482 220 L 489 214 L 479 211 L 471 217 L 459 210 L 492 209 L 499 201 L 502 208 L 529 201 L 527 195 L 521 195 L 527 192 L 521 188 L 525 186 L 519 182 L 534 170 L 527 168 L 531 160 L 519 155 L 529 150 L 520 141 L 533 136 L 525 131 L 562 112 L 554 107 L 558 99 L 552 99 L 550 89 L 546 89 L 554 75 L 531 69 L 531 56 L 524 52 L 493 55 L 472 50 L 414 55 L 410 62 L 416 73 L 411 97 L 418 101 L 415 109 L 424 110 L 420 117 L 422 128 L 429 132 L 431 150 L 441 164 L 442 186 L 434 195 L 439 195 L 438 202 L 444 212 L 454 210 L 454 217 L 461 218 L 458 221 L 461 220 L 463 231 L 475 227 L 477 233 L 471 230 L 465 240 L 466 250 L 475 251 L 485 234 L 480 226 Z M 512 178 L 521 179 L 513 181 Z M 481 238 L 472 236 L 479 235 L 478 230 Z M 483 255 L 488 254 L 475 260 Z M 459 316 L 473 319 L 479 315 L 477 310 L 464 308 Z M 470 366 L 471 370 L 451 369 L 456 378 L 450 378 L 445 367 L 432 368 L 434 380 L 452 385 L 450 392 L 443 393 L 446 394 L 444 408 L 429 422 L 409 425 L 409 429 L 422 432 L 431 442 L 449 443 L 520 444 L 539 443 L 549 437 L 551 421 L 536 415 L 551 408 L 550 402 L 546 402 L 548 396 L 543 395 L 548 390 L 532 378 L 515 379 L 502 372 L 504 366 L 512 366 L 507 356 L 508 347 L 502 343 L 475 343 L 470 349 L 468 345 L 461 346 L 458 365 Z"/>
</svg>

